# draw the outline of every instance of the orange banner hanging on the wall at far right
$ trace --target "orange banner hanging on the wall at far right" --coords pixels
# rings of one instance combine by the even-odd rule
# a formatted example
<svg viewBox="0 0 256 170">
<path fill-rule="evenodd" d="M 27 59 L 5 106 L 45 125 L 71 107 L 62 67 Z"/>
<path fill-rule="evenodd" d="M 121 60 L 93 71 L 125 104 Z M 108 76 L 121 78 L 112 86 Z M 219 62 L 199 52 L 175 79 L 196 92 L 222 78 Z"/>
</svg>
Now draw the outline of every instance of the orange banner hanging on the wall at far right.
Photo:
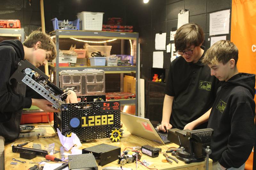
<svg viewBox="0 0 256 170">
<path fill-rule="evenodd" d="M 237 68 L 239 72 L 252 74 L 256 74 L 255 9 L 256 0 L 232 0 L 231 41 L 239 51 Z M 245 169 L 252 170 L 252 163 L 253 152 L 246 161 Z"/>
</svg>

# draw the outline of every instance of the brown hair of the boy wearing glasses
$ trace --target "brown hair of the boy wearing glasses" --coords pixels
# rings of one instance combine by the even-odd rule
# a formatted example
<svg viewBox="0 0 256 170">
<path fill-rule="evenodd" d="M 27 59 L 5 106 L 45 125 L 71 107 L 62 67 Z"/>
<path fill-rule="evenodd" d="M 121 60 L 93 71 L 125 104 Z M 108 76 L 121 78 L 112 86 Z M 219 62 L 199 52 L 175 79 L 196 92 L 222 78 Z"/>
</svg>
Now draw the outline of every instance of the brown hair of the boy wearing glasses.
<svg viewBox="0 0 256 170">
<path fill-rule="evenodd" d="M 204 31 L 196 23 L 188 23 L 181 26 L 174 36 L 175 49 L 183 51 L 191 45 L 199 46 L 204 42 Z"/>
</svg>

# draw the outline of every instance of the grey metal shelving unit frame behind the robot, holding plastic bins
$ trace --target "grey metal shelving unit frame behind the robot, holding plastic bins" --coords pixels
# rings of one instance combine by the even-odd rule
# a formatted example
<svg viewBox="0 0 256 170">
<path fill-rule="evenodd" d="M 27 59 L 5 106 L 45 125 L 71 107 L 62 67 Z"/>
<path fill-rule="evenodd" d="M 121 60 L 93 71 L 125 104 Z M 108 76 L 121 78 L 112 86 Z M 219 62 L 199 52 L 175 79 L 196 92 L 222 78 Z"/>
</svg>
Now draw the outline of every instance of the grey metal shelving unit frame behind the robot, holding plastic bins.
<svg viewBox="0 0 256 170">
<path fill-rule="evenodd" d="M 100 69 L 104 70 L 105 73 L 136 73 L 136 98 L 120 100 L 121 105 L 136 105 L 136 115 L 140 115 L 140 109 L 138 109 L 138 101 L 140 90 L 138 88 L 138 80 L 140 80 L 139 71 L 139 33 L 120 33 L 120 32 L 107 32 L 107 31 L 76 31 L 76 30 L 55 30 L 50 33 L 52 38 L 55 38 L 57 57 L 56 57 L 56 67 L 49 66 L 51 69 L 55 70 L 56 85 L 59 87 L 59 72 L 62 70 L 78 70 L 82 71 L 84 69 Z M 121 39 L 121 40 L 135 40 L 136 41 L 136 66 L 75 66 L 75 67 L 59 67 L 59 40 L 60 38 L 81 38 L 81 39 Z"/>
</svg>

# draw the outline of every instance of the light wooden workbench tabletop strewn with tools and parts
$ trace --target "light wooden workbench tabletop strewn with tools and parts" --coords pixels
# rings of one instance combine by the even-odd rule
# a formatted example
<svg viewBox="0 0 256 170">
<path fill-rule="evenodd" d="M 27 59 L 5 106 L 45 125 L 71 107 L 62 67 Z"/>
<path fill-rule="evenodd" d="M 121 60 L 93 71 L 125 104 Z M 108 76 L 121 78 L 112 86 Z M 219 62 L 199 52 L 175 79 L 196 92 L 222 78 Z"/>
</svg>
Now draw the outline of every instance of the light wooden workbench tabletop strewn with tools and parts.
<svg viewBox="0 0 256 170">
<path fill-rule="evenodd" d="M 47 126 L 49 124 L 45 123 L 45 124 L 33 124 L 33 125 L 36 126 L 35 129 L 38 129 L 37 125 L 46 125 Z M 40 127 L 40 128 L 42 128 L 42 127 Z M 51 127 L 44 127 L 44 128 L 47 130 L 47 136 L 53 136 L 55 134 Z M 153 147 L 162 148 L 162 152 L 165 152 L 170 147 L 178 147 L 178 145 L 176 145 L 176 144 L 167 144 L 167 145 L 158 144 L 156 142 L 149 141 L 147 139 L 131 135 L 125 129 L 125 127 L 123 127 L 122 129 L 124 129 L 124 135 L 123 135 L 122 139 L 118 142 L 112 142 L 109 138 L 96 139 L 93 141 L 82 143 L 82 146 L 79 149 L 88 148 L 91 146 L 95 146 L 97 144 L 110 144 L 110 145 L 119 146 L 119 147 L 121 147 L 121 151 L 124 151 L 124 149 L 127 147 L 134 147 L 134 146 L 140 147 L 142 145 L 148 144 Z M 22 140 L 34 140 L 33 142 L 30 142 L 27 145 L 24 145 L 24 147 L 32 148 L 33 143 L 35 143 L 35 144 L 41 144 L 43 150 L 45 150 L 44 147 L 48 146 L 48 144 L 55 143 L 55 150 L 60 151 L 61 144 L 60 144 L 58 135 L 55 135 L 55 137 L 53 137 L 53 138 L 38 138 L 37 139 L 37 137 L 29 137 L 29 138 L 27 137 L 27 138 L 16 139 L 16 141 L 22 141 Z M 21 143 L 23 143 L 23 142 L 21 142 Z M 19 144 L 19 143 L 16 143 L 15 145 L 17 145 L 17 144 Z M 36 165 L 36 164 L 29 164 L 29 162 L 39 162 L 42 159 L 44 159 L 44 157 L 42 157 L 42 156 L 37 156 L 36 158 L 31 159 L 31 160 L 22 159 L 22 158 L 20 158 L 20 153 L 12 152 L 11 145 L 12 145 L 12 143 L 6 144 L 5 148 L 4 148 L 5 170 L 10 170 L 10 169 L 26 170 L 29 167 Z M 71 152 L 69 151 L 68 153 L 71 153 Z M 168 155 L 171 155 L 171 153 L 168 153 Z M 56 158 L 60 158 L 60 152 L 54 154 L 54 156 Z M 10 163 L 13 161 L 12 158 L 26 161 L 26 163 L 24 163 L 24 164 L 18 163 L 18 165 L 11 165 Z M 169 162 L 164 163 L 164 162 L 162 162 L 163 159 L 165 159 L 165 157 L 163 156 L 163 153 L 159 153 L 159 156 L 156 158 L 152 158 L 148 155 L 143 154 L 140 160 L 141 161 L 146 160 L 146 162 L 150 164 L 148 166 L 149 168 L 156 168 L 158 170 L 160 170 L 160 169 L 163 169 L 163 170 L 165 170 L 165 169 L 203 170 L 206 167 L 205 161 L 198 162 L 198 163 L 185 164 L 183 161 L 180 161 L 180 160 L 179 160 L 179 163 L 176 163 L 174 161 L 173 161 L 173 163 L 169 163 Z M 55 162 L 51 162 L 51 163 L 55 163 Z M 60 162 L 58 162 L 58 163 L 60 163 Z M 41 166 L 43 166 L 43 164 L 41 164 Z M 108 166 L 120 167 L 120 164 L 118 164 L 117 160 L 116 160 L 116 161 L 113 161 L 113 162 L 106 164 L 102 167 L 104 168 L 104 167 L 108 167 Z M 99 166 L 99 169 L 101 169 L 102 167 Z M 133 170 L 135 170 L 136 163 L 135 162 L 127 163 L 127 164 L 123 165 L 122 167 L 132 168 Z M 147 169 L 147 168 L 138 163 L 138 170 L 142 170 L 142 169 Z M 209 169 L 212 169 L 212 160 L 211 159 L 209 161 Z"/>
</svg>

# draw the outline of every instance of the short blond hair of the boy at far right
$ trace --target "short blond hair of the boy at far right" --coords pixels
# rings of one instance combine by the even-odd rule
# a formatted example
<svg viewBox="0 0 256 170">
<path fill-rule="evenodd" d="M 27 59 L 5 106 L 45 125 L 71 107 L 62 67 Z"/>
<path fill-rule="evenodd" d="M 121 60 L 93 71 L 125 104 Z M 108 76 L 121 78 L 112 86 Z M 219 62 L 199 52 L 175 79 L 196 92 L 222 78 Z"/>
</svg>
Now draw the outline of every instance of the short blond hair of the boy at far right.
<svg viewBox="0 0 256 170">
<path fill-rule="evenodd" d="M 238 61 L 238 49 L 233 42 L 228 40 L 220 40 L 215 42 L 204 54 L 202 63 L 204 64 L 218 64 L 228 63 L 229 60 L 234 59 L 235 65 Z"/>
</svg>

